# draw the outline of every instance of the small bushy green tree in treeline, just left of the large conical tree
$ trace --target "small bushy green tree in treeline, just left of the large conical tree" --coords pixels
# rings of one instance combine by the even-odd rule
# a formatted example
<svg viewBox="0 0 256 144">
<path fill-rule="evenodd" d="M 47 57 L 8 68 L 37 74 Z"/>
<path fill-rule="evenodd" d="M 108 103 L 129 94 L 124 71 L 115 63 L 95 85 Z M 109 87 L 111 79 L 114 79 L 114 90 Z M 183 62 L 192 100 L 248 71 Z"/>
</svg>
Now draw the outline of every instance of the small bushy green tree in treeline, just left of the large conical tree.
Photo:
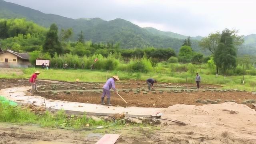
<svg viewBox="0 0 256 144">
<path fill-rule="evenodd" d="M 190 46 L 182 46 L 180 48 L 179 52 L 179 60 L 180 62 L 190 62 L 192 56 L 193 56 L 193 51 Z"/>
</svg>

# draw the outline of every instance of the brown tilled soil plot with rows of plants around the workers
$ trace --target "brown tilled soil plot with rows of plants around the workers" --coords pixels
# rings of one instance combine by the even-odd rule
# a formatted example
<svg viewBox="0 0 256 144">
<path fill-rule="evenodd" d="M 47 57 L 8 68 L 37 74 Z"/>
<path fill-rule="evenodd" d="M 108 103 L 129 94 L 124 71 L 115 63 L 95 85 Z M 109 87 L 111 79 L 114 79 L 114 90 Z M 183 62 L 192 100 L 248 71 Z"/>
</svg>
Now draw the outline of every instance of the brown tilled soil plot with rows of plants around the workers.
<svg viewBox="0 0 256 144">
<path fill-rule="evenodd" d="M 100 104 L 103 82 L 62 82 L 62 84 L 44 84 L 38 88 L 38 96 L 52 100 Z M 137 106 L 167 108 L 174 104 L 203 105 L 236 102 L 238 104 L 255 103 L 256 95 L 241 90 L 222 90 L 220 86 L 202 85 L 200 89 L 193 84 L 155 84 L 154 90 L 148 90 L 142 81 L 116 83 L 119 94 L 128 102 L 111 92 L 114 106 Z"/>
</svg>

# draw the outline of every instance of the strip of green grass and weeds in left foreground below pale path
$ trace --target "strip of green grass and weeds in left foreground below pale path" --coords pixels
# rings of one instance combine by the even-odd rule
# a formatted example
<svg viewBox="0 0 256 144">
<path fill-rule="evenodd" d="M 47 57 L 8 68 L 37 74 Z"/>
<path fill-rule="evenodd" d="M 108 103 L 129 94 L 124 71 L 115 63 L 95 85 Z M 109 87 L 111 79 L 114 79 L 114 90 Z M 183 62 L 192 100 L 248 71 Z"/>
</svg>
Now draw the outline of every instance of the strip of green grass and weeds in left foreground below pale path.
<svg viewBox="0 0 256 144">
<path fill-rule="evenodd" d="M 102 120 L 94 121 L 92 118 L 88 118 L 86 114 L 82 116 L 67 116 L 64 110 L 60 110 L 56 114 L 46 111 L 42 115 L 36 115 L 30 112 L 29 109 L 22 109 L 20 106 L 10 106 L 2 102 L 0 102 L 0 122 L 38 124 L 42 127 L 52 128 L 63 126 L 75 129 L 84 128 L 86 124 L 89 124 L 89 128 L 111 124 L 111 122 L 104 122 Z"/>
</svg>

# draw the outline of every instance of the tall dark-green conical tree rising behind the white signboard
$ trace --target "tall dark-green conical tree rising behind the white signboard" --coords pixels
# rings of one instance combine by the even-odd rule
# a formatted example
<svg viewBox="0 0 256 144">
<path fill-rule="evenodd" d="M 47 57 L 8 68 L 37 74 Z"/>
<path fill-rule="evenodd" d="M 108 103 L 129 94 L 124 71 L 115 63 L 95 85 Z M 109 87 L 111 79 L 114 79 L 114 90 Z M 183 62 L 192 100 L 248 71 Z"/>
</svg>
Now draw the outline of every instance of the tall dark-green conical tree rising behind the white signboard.
<svg viewBox="0 0 256 144">
<path fill-rule="evenodd" d="M 58 55 L 63 52 L 60 42 L 58 41 L 58 26 L 56 24 L 52 24 L 50 30 L 46 34 L 43 52 L 48 52 L 51 57 L 54 56 L 55 52 Z"/>
</svg>

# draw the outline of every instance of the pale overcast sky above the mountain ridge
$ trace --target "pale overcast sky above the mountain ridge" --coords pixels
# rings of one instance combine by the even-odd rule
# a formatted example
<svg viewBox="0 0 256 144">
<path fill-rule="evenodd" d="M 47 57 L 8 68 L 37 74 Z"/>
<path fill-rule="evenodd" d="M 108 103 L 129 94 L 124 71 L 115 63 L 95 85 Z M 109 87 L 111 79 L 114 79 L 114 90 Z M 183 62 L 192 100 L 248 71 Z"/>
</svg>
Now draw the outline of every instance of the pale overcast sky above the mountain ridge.
<svg viewBox="0 0 256 144">
<path fill-rule="evenodd" d="M 186 36 L 224 28 L 256 34 L 256 0 L 5 0 L 68 18 L 122 18 Z"/>
</svg>

